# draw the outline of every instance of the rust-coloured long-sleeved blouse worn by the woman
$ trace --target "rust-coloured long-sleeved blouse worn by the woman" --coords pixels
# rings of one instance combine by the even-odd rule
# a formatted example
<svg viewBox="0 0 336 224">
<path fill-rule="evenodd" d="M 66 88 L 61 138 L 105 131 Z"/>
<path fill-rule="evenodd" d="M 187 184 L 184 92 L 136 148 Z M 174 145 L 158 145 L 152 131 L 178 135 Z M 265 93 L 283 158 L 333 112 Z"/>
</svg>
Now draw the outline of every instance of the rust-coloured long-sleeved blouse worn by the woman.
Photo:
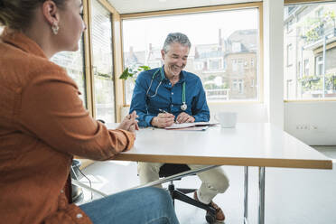
<svg viewBox="0 0 336 224">
<path fill-rule="evenodd" d="M 89 117 L 66 71 L 23 33 L 0 38 L 0 222 L 91 223 L 63 191 L 73 155 L 112 159 L 135 135 Z M 79 215 L 80 214 L 80 215 Z"/>
</svg>

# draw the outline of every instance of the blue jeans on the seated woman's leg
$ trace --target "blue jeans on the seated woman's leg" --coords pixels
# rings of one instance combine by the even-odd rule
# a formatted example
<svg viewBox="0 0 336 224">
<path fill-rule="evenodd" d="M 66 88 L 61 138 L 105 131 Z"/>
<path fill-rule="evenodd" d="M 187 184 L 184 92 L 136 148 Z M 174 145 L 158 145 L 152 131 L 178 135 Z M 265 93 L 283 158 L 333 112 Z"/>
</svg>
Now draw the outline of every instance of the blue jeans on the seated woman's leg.
<svg viewBox="0 0 336 224">
<path fill-rule="evenodd" d="M 148 187 L 123 191 L 79 206 L 94 224 L 178 224 L 170 195 Z"/>
</svg>

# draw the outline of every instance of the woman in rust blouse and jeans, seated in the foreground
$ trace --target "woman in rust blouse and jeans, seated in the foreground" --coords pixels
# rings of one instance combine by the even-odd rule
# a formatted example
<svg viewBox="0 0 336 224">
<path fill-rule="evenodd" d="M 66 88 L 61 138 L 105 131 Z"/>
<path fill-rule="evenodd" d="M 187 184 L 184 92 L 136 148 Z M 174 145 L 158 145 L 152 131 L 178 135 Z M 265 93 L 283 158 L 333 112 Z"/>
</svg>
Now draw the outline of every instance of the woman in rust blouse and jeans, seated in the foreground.
<svg viewBox="0 0 336 224">
<path fill-rule="evenodd" d="M 6 223 L 178 223 L 169 195 L 125 191 L 81 205 L 64 188 L 73 155 L 113 159 L 135 140 L 136 114 L 116 130 L 89 117 L 65 70 L 77 51 L 80 0 L 0 0 L 0 219 Z"/>
</svg>

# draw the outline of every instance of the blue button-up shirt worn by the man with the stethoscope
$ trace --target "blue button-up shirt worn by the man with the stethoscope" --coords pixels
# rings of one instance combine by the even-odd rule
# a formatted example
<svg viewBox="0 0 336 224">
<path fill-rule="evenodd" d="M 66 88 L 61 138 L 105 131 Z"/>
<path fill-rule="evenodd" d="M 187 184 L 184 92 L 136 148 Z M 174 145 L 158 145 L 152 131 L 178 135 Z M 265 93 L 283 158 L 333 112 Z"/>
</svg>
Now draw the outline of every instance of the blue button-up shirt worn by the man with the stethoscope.
<svg viewBox="0 0 336 224">
<path fill-rule="evenodd" d="M 149 89 L 152 79 L 153 83 Z M 162 83 L 158 87 L 161 80 Z M 185 82 L 185 99 L 188 106 L 185 111 L 181 109 L 183 82 Z M 157 93 L 155 95 L 156 89 Z M 185 112 L 194 117 L 195 122 L 209 121 L 210 119 L 210 111 L 201 79 L 184 70 L 180 73 L 180 80 L 175 83 L 173 88 L 170 80 L 161 75 L 160 68 L 145 70 L 136 78 L 130 113 L 136 111 L 139 116 L 139 126 L 152 126 L 153 117 L 161 113 L 159 109 L 173 114 L 175 118 Z"/>
</svg>

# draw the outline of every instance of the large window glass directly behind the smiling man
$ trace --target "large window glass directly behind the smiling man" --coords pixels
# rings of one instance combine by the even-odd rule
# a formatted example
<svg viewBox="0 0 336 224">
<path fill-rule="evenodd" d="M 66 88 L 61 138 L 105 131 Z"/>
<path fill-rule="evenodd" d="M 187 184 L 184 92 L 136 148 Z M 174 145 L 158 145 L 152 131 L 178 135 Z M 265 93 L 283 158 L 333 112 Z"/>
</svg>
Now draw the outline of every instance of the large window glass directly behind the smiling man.
<svg viewBox="0 0 336 224">
<path fill-rule="evenodd" d="M 258 99 L 257 8 L 124 20 L 125 68 L 162 66 L 160 51 L 173 32 L 191 40 L 185 70 L 201 78 L 208 102 Z M 134 86 L 134 79 L 126 80 L 126 104 Z"/>
</svg>

